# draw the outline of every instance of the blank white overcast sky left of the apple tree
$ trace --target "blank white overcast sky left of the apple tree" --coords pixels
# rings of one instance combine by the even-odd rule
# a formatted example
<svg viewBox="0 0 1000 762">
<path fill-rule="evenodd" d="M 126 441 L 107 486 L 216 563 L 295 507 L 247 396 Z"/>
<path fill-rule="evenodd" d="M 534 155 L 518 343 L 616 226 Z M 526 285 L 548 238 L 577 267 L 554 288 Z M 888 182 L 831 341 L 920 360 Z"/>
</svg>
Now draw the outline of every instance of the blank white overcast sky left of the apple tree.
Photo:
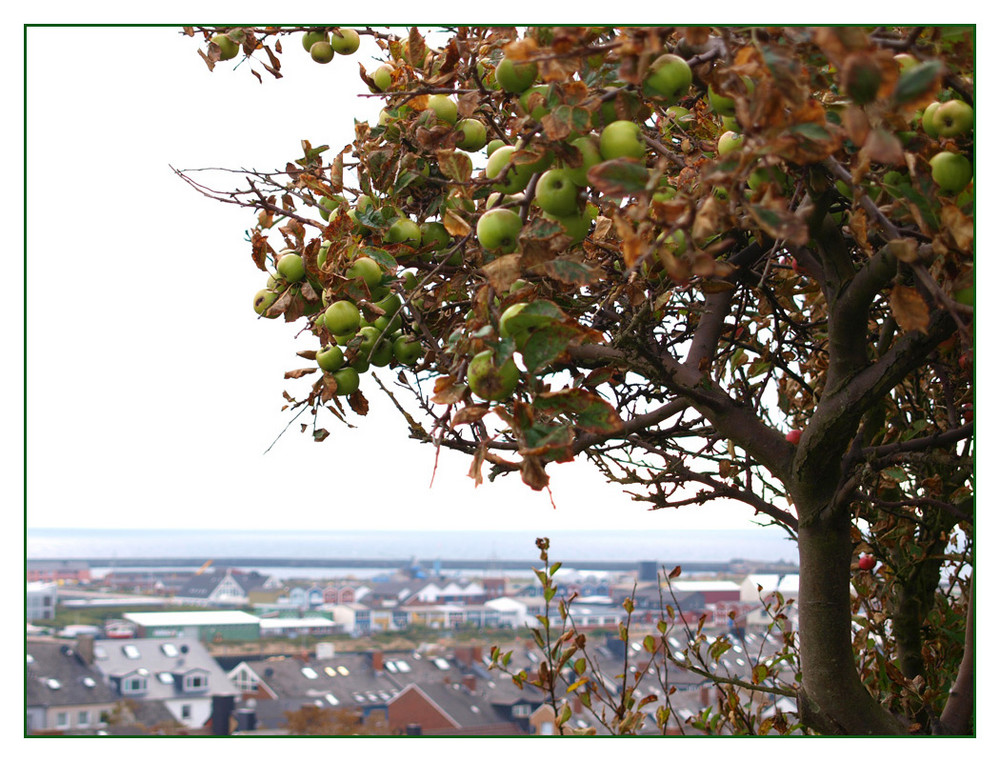
<svg viewBox="0 0 1000 762">
<path fill-rule="evenodd" d="M 271 169 L 302 139 L 346 145 L 380 107 L 357 97 L 365 43 L 320 66 L 289 39 L 285 78 L 259 84 L 232 62 L 209 73 L 174 28 L 28 30 L 28 526 L 748 526 L 741 506 L 649 513 L 585 463 L 550 466 L 556 510 L 516 476 L 474 489 L 447 452 L 430 488 L 433 449 L 367 378 L 358 429 L 331 419 L 315 444 L 296 424 L 264 454 L 314 340 L 256 319 L 251 215 L 170 165 Z"/>
</svg>

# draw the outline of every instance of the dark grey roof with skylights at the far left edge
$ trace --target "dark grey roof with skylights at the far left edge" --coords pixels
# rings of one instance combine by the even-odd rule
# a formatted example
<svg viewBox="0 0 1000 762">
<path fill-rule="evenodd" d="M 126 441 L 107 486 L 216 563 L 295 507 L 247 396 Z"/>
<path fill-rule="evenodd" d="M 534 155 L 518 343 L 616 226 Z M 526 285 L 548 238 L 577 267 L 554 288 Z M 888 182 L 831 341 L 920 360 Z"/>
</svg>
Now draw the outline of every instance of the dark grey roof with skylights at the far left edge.
<svg viewBox="0 0 1000 762">
<path fill-rule="evenodd" d="M 65 643 L 27 643 L 27 705 L 114 704 L 118 696 Z M 53 682 L 55 681 L 55 682 Z"/>
</svg>

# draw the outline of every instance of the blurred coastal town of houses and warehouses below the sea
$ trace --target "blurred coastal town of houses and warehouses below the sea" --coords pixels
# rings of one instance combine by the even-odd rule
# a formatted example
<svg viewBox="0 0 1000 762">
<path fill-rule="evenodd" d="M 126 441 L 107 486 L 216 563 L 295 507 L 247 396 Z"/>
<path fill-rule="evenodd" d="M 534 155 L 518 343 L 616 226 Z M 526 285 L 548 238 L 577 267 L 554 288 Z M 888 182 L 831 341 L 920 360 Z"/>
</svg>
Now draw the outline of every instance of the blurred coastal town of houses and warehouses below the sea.
<svg viewBox="0 0 1000 762">
<path fill-rule="evenodd" d="M 28 560 L 26 734 L 606 734 L 627 693 L 637 732 L 690 735 L 719 676 L 794 679 L 794 567 L 274 571 Z M 781 691 L 747 701 L 794 722 Z"/>
</svg>

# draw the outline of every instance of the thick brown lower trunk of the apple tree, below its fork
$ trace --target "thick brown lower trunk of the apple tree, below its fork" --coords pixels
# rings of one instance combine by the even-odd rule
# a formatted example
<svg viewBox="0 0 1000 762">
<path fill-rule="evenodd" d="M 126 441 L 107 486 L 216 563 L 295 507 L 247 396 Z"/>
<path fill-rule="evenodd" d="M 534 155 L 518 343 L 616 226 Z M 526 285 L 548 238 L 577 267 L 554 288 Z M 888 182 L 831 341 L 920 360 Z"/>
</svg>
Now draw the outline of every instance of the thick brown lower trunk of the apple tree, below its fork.
<svg viewBox="0 0 1000 762">
<path fill-rule="evenodd" d="M 851 533 L 842 511 L 799 525 L 799 714 L 827 734 L 898 735 L 906 726 L 871 697 L 851 642 Z M 801 511 L 800 511 L 801 515 Z"/>
</svg>

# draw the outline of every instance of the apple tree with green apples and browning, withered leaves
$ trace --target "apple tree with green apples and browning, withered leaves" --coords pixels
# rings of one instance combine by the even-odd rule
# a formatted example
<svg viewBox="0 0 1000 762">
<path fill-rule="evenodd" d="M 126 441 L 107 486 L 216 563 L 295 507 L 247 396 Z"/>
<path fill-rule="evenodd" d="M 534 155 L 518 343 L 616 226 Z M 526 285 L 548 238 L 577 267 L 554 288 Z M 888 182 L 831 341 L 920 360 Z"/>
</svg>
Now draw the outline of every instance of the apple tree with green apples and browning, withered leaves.
<svg viewBox="0 0 1000 762">
<path fill-rule="evenodd" d="M 800 721 L 971 732 L 970 28 L 185 33 L 260 79 L 381 51 L 343 150 L 181 173 L 254 211 L 254 308 L 315 336 L 290 408 L 384 393 L 477 483 L 582 457 L 741 501 L 798 545 Z"/>
</svg>

